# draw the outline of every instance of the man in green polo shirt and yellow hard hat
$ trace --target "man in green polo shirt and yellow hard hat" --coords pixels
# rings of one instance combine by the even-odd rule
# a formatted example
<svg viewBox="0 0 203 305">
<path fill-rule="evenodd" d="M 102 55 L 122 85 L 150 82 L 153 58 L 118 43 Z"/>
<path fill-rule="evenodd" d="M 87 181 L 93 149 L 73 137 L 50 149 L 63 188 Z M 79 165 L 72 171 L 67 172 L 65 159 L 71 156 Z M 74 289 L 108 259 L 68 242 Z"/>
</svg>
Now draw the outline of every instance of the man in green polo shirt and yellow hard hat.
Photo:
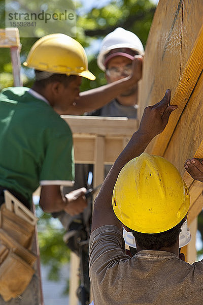
<svg viewBox="0 0 203 305">
<path fill-rule="evenodd" d="M 30 208 L 41 185 L 44 211 L 78 214 L 87 205 L 86 189 L 60 192 L 61 185 L 72 184 L 74 166 L 72 133 L 59 114 L 79 97 L 82 77 L 95 77 L 82 46 L 63 34 L 39 39 L 24 65 L 36 70 L 32 88 L 6 88 L 0 94 L 1 203 L 7 189 Z M 0 304 L 39 305 L 38 291 L 34 276 L 20 297 L 4 301 L 0 296 Z"/>
</svg>

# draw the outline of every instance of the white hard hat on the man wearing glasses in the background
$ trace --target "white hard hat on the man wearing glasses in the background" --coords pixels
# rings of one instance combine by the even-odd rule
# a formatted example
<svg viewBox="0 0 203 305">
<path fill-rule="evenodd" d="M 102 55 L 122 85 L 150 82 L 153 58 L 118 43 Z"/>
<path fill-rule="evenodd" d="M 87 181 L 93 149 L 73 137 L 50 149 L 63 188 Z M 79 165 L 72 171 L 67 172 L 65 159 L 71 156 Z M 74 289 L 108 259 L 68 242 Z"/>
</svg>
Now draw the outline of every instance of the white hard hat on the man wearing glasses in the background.
<svg viewBox="0 0 203 305">
<path fill-rule="evenodd" d="M 110 57 L 108 56 L 107 58 L 106 55 L 112 50 L 115 50 L 115 52 L 111 52 Z M 130 54 L 130 51 L 132 54 Z M 103 39 L 97 56 L 97 65 L 101 70 L 105 71 L 107 59 L 109 60 L 117 55 L 133 59 L 133 55 L 136 55 L 134 54 L 135 51 L 138 52 L 139 55 L 144 55 L 144 48 L 141 40 L 136 34 L 126 31 L 126 29 L 122 27 L 117 27 Z"/>
</svg>

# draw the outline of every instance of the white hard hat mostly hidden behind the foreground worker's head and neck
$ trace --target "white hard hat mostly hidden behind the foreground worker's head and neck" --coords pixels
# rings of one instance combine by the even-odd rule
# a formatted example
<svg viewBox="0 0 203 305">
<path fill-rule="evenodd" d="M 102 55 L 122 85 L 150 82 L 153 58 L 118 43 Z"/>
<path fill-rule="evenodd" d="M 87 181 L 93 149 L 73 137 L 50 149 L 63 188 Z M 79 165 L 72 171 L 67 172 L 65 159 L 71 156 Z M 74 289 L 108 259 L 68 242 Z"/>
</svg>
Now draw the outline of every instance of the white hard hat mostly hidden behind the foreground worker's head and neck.
<svg viewBox="0 0 203 305">
<path fill-rule="evenodd" d="M 132 248 L 137 248 L 136 240 L 134 239 L 133 234 L 131 232 L 127 232 L 124 228 L 123 228 L 123 238 L 125 240 L 126 245 Z M 184 224 L 182 225 L 181 232 L 179 234 L 179 248 L 186 246 L 190 242 L 190 239 L 191 239 L 190 230 L 187 226 L 187 220 L 186 220 L 186 222 L 184 222 Z"/>
</svg>

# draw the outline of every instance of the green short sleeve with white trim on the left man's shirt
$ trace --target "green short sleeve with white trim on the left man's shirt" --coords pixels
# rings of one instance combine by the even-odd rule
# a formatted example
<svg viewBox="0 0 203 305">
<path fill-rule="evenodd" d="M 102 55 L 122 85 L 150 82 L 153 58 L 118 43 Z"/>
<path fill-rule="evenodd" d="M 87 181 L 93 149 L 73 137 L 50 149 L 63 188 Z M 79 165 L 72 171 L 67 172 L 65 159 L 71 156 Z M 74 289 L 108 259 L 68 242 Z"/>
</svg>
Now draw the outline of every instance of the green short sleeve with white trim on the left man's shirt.
<svg viewBox="0 0 203 305">
<path fill-rule="evenodd" d="M 71 132 L 49 141 L 40 173 L 40 185 L 73 186 L 74 150 Z"/>
</svg>

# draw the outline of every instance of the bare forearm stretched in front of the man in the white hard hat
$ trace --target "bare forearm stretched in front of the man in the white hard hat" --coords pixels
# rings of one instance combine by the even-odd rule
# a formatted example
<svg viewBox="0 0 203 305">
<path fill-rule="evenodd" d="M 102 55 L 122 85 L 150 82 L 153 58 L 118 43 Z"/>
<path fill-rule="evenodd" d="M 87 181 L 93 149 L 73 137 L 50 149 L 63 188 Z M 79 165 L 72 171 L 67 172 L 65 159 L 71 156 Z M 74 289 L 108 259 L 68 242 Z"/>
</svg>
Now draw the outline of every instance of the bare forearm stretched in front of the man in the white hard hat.
<svg viewBox="0 0 203 305">
<path fill-rule="evenodd" d="M 69 108 L 69 114 L 79 115 L 85 111 L 98 109 L 108 104 L 126 89 L 136 84 L 142 76 L 143 57 L 136 55 L 133 60 L 132 75 L 119 79 L 113 83 L 80 93 L 79 99 Z"/>
</svg>

